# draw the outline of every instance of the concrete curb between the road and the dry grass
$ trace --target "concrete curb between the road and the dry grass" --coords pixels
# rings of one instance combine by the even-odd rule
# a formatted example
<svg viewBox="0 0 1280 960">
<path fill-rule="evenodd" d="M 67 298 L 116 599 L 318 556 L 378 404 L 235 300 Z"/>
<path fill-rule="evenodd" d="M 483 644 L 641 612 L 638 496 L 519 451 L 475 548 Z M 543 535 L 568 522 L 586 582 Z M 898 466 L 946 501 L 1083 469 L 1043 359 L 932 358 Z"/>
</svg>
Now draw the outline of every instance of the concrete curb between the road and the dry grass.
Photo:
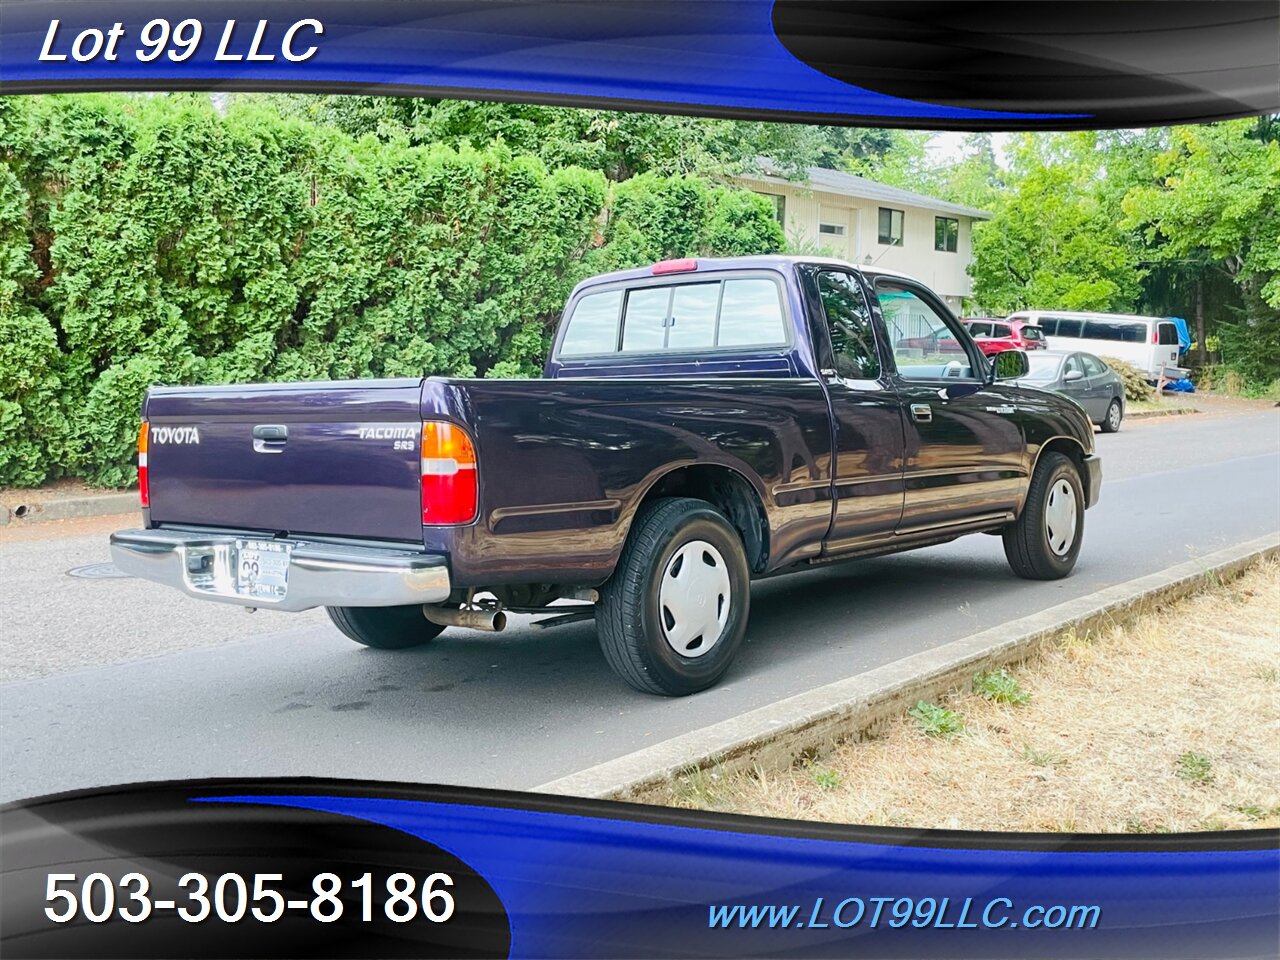
<svg viewBox="0 0 1280 960">
<path fill-rule="evenodd" d="M 695 769 L 722 774 L 755 767 L 786 769 L 800 759 L 823 755 L 840 741 L 865 735 L 916 700 L 966 684 L 980 669 L 1025 660 L 1066 630 L 1088 635 L 1124 623 L 1208 582 L 1234 579 L 1271 556 L 1280 556 L 1280 532 L 837 680 L 534 790 L 662 803 L 677 778 Z"/>
</svg>

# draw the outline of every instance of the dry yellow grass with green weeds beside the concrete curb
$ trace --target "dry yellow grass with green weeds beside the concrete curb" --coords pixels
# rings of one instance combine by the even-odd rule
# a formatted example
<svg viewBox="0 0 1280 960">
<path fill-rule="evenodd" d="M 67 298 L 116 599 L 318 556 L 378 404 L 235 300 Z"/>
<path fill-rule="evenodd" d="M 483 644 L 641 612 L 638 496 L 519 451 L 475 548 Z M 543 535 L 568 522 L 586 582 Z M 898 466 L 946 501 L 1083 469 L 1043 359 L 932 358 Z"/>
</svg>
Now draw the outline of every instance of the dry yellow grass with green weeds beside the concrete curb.
<svg viewBox="0 0 1280 960">
<path fill-rule="evenodd" d="M 838 823 L 1161 832 L 1280 826 L 1280 562 L 920 703 L 678 806 Z"/>
</svg>

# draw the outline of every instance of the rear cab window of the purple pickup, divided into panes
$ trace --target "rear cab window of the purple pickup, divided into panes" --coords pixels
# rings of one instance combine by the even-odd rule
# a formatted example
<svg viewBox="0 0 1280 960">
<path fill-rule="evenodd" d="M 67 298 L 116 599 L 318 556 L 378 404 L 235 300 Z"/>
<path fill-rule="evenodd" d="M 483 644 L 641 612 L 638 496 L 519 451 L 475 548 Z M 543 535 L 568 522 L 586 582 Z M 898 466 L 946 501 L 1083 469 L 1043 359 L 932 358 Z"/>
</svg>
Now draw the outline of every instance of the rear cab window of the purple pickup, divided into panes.
<svg viewBox="0 0 1280 960">
<path fill-rule="evenodd" d="M 564 319 L 558 356 L 749 351 L 787 343 L 778 279 L 772 274 L 731 274 L 588 293 Z"/>
</svg>

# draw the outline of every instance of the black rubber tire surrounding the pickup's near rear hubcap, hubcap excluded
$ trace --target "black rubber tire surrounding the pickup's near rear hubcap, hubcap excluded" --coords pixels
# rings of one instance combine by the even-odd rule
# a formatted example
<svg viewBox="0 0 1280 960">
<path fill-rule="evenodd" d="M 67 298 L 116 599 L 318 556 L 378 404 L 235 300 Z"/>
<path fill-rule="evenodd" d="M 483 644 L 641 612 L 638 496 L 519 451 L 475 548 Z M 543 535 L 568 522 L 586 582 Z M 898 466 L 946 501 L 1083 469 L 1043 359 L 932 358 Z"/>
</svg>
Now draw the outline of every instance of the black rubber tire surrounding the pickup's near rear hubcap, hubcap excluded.
<svg viewBox="0 0 1280 960">
<path fill-rule="evenodd" d="M 676 650 L 677 640 L 667 639 L 667 625 L 676 626 L 676 621 L 671 608 L 662 607 L 659 595 L 663 577 L 677 576 L 682 568 L 682 561 L 676 563 L 677 552 L 698 541 L 710 544 L 719 554 L 717 558 L 703 552 L 705 566 L 716 570 L 721 561 L 724 564 L 728 595 L 718 594 L 719 588 L 712 593 L 727 605 L 727 614 L 718 611 L 714 614 L 723 616 L 723 622 L 705 652 L 686 657 Z M 640 511 L 618 566 L 600 590 L 595 626 L 604 658 L 622 680 L 645 694 L 686 696 L 705 690 L 724 676 L 742 645 L 751 607 L 750 586 L 742 540 L 719 511 L 705 500 L 686 497 L 657 500 Z M 703 596 L 709 594 L 699 591 L 698 598 Z M 690 609 L 698 616 L 710 616 L 709 611 L 703 612 L 705 600 L 687 602 L 695 604 Z M 690 637 L 686 649 L 696 649 L 704 639 L 705 634 Z"/>
</svg>

